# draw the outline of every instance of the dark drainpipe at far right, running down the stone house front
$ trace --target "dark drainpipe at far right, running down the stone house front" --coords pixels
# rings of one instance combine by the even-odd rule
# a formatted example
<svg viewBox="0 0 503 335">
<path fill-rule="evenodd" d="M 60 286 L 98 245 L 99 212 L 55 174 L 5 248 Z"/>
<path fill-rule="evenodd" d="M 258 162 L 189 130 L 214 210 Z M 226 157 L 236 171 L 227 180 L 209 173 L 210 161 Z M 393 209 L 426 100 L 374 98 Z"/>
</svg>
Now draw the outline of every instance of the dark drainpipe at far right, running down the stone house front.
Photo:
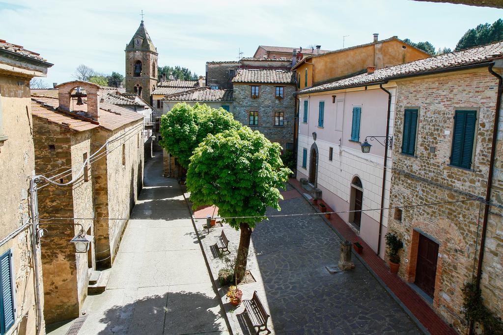
<svg viewBox="0 0 503 335">
<path fill-rule="evenodd" d="M 501 66 L 503 66 L 503 60 L 498 60 L 497 61 Z M 487 174 L 487 188 L 485 192 L 485 205 L 484 205 L 484 219 L 482 221 L 482 233 L 480 236 L 480 252 L 478 256 L 478 265 L 477 265 L 477 277 L 475 278 L 475 285 L 477 289 L 480 288 L 480 277 L 482 276 L 482 262 L 484 259 L 484 248 L 485 248 L 485 236 L 487 233 L 487 220 L 489 216 L 489 207 L 490 207 L 490 201 L 491 201 L 491 188 L 492 188 L 492 175 L 494 172 L 493 166 L 494 166 L 494 156 L 496 154 L 496 140 L 497 140 L 497 135 L 498 135 L 498 122 L 499 122 L 499 113 L 501 109 L 501 92 L 503 91 L 503 78 L 494 70 L 492 67 L 494 66 L 494 63 L 489 64 L 488 70 L 489 73 L 498 78 L 498 91 L 496 95 L 496 108 L 494 111 L 494 125 L 493 125 L 493 131 L 492 131 L 492 143 L 491 143 L 491 155 L 489 159 L 489 172 Z M 470 322 L 470 333 L 473 333 L 473 322 Z"/>
</svg>

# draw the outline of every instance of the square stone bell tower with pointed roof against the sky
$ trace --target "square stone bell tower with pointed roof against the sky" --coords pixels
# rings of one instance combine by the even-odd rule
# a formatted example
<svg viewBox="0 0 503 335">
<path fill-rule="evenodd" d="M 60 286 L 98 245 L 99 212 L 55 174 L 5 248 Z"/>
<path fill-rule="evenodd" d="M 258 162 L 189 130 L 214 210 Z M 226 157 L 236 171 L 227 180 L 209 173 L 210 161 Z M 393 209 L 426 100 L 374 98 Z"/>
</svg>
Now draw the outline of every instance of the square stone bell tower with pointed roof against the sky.
<svg viewBox="0 0 503 335">
<path fill-rule="evenodd" d="M 126 92 L 137 93 L 152 103 L 151 94 L 157 87 L 157 49 L 145 29 L 143 20 L 126 45 Z"/>
</svg>

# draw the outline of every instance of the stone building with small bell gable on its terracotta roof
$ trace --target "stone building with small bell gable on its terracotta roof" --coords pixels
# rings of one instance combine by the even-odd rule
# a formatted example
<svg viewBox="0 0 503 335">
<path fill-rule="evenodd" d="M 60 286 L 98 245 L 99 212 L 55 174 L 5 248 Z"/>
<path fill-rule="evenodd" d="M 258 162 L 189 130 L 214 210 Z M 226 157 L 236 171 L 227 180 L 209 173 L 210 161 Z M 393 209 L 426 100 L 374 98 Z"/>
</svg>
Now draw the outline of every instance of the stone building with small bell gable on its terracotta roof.
<svg viewBox="0 0 503 335">
<path fill-rule="evenodd" d="M 78 101 L 76 87 L 85 101 Z M 36 173 L 60 184 L 41 185 L 40 217 L 96 219 L 42 221 L 47 323 L 78 316 L 88 285 L 106 285 L 96 270 L 111 266 L 143 180 L 144 116 L 105 101 L 93 83 L 58 89 L 58 98 L 32 97 Z M 87 253 L 68 243 L 80 231 L 95 240 Z"/>
</svg>

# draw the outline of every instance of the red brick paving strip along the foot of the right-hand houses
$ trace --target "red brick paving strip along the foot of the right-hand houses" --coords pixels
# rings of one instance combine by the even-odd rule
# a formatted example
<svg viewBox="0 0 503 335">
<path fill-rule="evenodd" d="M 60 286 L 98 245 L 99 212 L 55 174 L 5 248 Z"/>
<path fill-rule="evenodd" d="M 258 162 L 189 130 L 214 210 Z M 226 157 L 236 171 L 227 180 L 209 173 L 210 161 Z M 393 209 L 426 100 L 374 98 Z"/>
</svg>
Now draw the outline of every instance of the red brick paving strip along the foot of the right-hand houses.
<svg viewBox="0 0 503 335">
<path fill-rule="evenodd" d="M 289 183 L 299 192 L 303 192 L 302 186 L 297 179 L 291 178 Z M 323 201 L 319 201 L 323 202 Z M 324 202 L 323 202 L 324 203 Z M 310 204 L 312 202 L 310 201 Z M 326 203 L 327 211 L 333 211 Z M 431 334 L 457 334 L 440 316 L 435 313 L 432 307 L 418 295 L 407 283 L 402 281 L 397 275 L 389 272 L 384 261 L 379 258 L 355 232 L 344 222 L 339 215 L 330 215 L 327 219 L 322 216 L 331 227 L 334 228 L 342 238 L 351 241 L 359 242 L 363 246 L 362 254 L 354 253 L 363 264 L 366 264 L 371 273 L 383 284 L 383 286 L 391 293 L 391 295 L 399 302 L 404 310 L 413 315 L 418 322 L 429 331 Z"/>
</svg>

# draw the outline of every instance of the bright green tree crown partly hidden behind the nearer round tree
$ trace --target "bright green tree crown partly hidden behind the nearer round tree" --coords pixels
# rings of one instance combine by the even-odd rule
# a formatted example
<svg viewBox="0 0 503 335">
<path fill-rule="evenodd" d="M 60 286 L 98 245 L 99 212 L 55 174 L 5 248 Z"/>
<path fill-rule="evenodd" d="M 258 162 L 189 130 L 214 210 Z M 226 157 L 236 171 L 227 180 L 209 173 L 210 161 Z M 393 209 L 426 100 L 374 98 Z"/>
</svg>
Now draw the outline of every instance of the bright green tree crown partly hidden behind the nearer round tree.
<svg viewBox="0 0 503 335">
<path fill-rule="evenodd" d="M 181 102 L 161 117 L 162 140 L 159 143 L 178 158 L 180 165 L 188 168 L 192 152 L 208 134 L 241 127 L 232 114 L 222 108 L 215 109 L 198 103 L 190 106 Z"/>
</svg>

